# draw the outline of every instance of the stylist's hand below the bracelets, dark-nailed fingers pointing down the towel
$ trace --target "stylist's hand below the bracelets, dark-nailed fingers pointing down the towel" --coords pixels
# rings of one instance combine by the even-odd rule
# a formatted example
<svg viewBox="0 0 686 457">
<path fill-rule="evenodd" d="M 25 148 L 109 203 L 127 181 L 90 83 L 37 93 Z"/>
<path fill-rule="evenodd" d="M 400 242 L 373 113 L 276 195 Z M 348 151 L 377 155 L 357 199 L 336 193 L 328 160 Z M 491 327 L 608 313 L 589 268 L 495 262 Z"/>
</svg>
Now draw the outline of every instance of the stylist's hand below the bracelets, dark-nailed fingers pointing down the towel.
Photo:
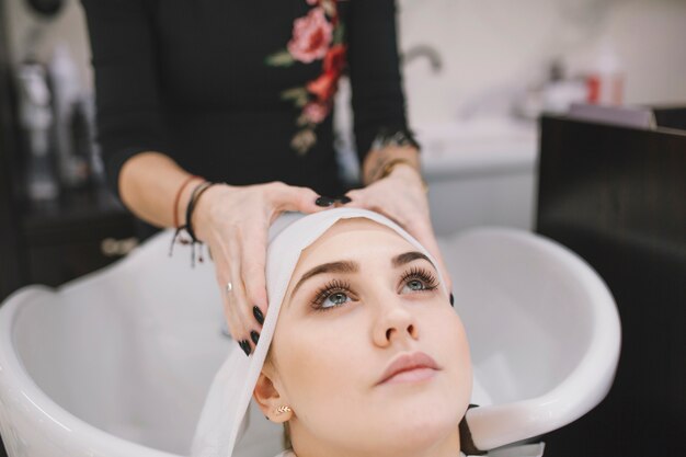
<svg viewBox="0 0 686 457">
<path fill-rule="evenodd" d="M 258 343 L 266 316 L 270 226 L 284 212 L 322 210 L 315 204 L 318 197 L 310 188 L 282 182 L 220 184 L 208 188 L 197 203 L 193 228 L 209 248 L 229 331 L 247 355 Z"/>
</svg>

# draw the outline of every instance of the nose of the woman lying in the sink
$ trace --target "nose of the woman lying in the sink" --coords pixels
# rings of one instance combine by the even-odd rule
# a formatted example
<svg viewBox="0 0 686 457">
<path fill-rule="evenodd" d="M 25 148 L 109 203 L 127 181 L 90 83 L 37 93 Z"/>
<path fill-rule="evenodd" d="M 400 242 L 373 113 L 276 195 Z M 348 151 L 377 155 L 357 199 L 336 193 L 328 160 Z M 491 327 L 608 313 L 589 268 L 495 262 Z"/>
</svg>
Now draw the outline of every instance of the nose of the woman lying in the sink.
<svg viewBox="0 0 686 457">
<path fill-rule="evenodd" d="M 379 306 L 374 325 L 374 343 L 379 347 L 387 347 L 401 340 L 419 339 L 415 318 L 405 305 L 398 297 L 385 299 L 388 301 Z"/>
</svg>

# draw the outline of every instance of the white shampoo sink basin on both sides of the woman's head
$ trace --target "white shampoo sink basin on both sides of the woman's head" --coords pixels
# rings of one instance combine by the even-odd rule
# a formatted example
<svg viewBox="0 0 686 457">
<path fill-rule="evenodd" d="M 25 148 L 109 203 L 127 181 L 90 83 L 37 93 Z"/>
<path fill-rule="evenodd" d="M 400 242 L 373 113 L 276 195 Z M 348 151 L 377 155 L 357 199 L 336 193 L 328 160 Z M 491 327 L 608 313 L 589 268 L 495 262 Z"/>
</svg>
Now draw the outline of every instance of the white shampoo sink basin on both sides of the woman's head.
<svg viewBox="0 0 686 457">
<path fill-rule="evenodd" d="M 0 433 L 11 457 L 186 455 L 235 343 L 220 331 L 211 265 L 191 269 L 179 247 L 170 259 L 171 237 L 60 288 L 28 286 L 5 300 Z M 540 435 L 605 397 L 619 319 L 587 264 L 516 229 L 470 230 L 441 244 L 472 349 L 477 446 Z M 271 457 L 273 446 L 241 455 Z"/>
</svg>

